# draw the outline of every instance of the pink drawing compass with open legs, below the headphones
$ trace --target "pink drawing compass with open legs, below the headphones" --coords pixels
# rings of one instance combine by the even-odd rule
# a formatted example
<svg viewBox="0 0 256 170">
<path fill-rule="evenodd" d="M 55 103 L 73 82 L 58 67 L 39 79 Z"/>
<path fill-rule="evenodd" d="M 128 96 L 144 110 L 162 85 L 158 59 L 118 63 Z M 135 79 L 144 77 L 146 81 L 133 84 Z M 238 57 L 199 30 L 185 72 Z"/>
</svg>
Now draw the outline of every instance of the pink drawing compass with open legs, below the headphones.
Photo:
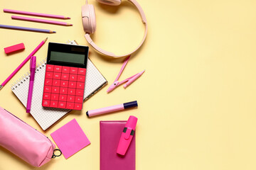
<svg viewBox="0 0 256 170">
<path fill-rule="evenodd" d="M 130 57 L 130 56 L 129 56 Z M 109 93 L 110 91 L 113 91 L 114 89 L 117 88 L 117 86 L 124 84 L 125 82 L 127 82 L 126 84 L 124 84 L 124 88 L 127 88 L 127 86 L 129 86 L 130 84 L 132 84 L 133 81 L 135 81 L 136 79 L 138 79 L 139 77 L 142 76 L 142 74 L 145 72 L 145 70 L 143 70 L 142 72 L 139 72 L 135 75 L 133 75 L 132 77 L 129 77 L 127 79 L 124 79 L 123 81 L 119 82 L 118 79 L 122 74 L 122 71 L 124 70 L 124 67 L 126 66 L 129 57 L 127 57 L 127 59 L 124 61 L 124 64 L 122 64 L 122 67 L 120 69 L 119 74 L 117 75 L 117 78 L 114 80 L 114 83 L 110 85 L 110 87 L 107 89 L 107 93 Z"/>
</svg>

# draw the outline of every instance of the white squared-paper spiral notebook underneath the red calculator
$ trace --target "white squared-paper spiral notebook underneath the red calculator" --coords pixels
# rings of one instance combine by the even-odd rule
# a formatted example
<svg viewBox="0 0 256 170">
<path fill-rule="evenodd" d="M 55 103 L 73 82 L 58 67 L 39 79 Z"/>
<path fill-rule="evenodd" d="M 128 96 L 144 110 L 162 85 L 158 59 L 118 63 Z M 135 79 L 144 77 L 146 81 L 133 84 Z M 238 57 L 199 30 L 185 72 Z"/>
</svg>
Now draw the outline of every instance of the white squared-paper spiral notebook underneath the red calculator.
<svg viewBox="0 0 256 170">
<path fill-rule="evenodd" d="M 75 41 L 70 41 L 70 44 L 77 44 Z M 43 60 L 38 64 L 36 68 L 35 81 L 33 85 L 33 96 L 31 102 L 31 115 L 41 126 L 43 130 L 48 129 L 55 122 L 60 120 L 64 115 L 70 112 L 67 109 L 60 108 L 43 108 L 43 84 L 46 73 L 46 60 Z M 25 74 L 15 84 L 11 85 L 11 90 L 21 101 L 23 106 L 26 107 L 28 98 L 28 86 L 29 86 L 30 74 Z M 93 94 L 99 91 L 103 86 L 107 84 L 107 80 L 95 65 L 88 59 L 87 61 L 87 72 L 85 77 L 85 94 L 84 101 L 90 98 Z"/>
</svg>

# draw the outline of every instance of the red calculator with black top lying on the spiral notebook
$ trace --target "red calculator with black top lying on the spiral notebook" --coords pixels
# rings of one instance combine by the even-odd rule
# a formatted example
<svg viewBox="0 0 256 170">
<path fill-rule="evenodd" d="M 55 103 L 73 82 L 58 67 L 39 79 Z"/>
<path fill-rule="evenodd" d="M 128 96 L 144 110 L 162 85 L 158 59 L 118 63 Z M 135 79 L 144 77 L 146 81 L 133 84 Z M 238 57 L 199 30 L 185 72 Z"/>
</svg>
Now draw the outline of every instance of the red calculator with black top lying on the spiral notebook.
<svg viewBox="0 0 256 170">
<path fill-rule="evenodd" d="M 89 47 L 49 42 L 43 107 L 82 110 Z"/>
</svg>

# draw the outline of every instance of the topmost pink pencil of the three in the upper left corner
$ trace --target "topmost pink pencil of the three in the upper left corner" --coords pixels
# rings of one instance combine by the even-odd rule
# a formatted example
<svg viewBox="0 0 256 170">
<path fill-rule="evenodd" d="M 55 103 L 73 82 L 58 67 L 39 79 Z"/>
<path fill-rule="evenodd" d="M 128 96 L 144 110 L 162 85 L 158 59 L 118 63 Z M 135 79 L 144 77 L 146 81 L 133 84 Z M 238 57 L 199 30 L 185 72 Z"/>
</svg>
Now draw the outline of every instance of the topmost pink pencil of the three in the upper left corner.
<svg viewBox="0 0 256 170">
<path fill-rule="evenodd" d="M 17 13 L 17 14 L 23 14 L 27 16 L 41 16 L 41 17 L 47 17 L 47 18 L 58 18 L 58 19 L 70 19 L 66 16 L 58 16 L 58 15 L 52 15 L 47 13 L 34 13 L 34 12 L 27 12 L 27 11 L 17 11 L 13 9 L 4 9 L 4 12 L 6 13 Z"/>
</svg>

